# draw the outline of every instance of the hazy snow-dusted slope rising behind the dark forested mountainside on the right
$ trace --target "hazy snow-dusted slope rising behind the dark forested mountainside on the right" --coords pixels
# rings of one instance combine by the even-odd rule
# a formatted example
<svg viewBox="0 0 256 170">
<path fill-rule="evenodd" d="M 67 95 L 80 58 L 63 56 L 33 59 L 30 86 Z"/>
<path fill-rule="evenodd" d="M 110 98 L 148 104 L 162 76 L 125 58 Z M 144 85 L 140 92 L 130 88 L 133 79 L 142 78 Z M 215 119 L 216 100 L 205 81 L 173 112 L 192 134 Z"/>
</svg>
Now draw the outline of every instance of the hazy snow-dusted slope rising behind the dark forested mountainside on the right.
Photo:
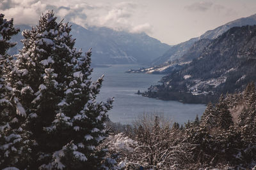
<svg viewBox="0 0 256 170">
<path fill-rule="evenodd" d="M 239 18 L 232 22 L 228 22 L 227 24 L 221 25 L 216 29 L 206 31 L 204 34 L 202 34 L 202 36 L 198 38 L 192 38 L 184 43 L 171 46 L 163 55 L 153 60 L 151 64 L 152 66 L 161 65 L 164 62 L 168 62 L 168 61 L 170 62 L 173 60 L 180 59 L 180 57 L 182 57 L 189 50 L 189 48 L 191 48 L 193 43 L 195 43 L 200 39 L 215 39 L 232 27 L 241 27 L 243 25 L 255 25 L 255 24 L 256 24 L 256 14 L 251 15 L 250 17 Z"/>
</svg>

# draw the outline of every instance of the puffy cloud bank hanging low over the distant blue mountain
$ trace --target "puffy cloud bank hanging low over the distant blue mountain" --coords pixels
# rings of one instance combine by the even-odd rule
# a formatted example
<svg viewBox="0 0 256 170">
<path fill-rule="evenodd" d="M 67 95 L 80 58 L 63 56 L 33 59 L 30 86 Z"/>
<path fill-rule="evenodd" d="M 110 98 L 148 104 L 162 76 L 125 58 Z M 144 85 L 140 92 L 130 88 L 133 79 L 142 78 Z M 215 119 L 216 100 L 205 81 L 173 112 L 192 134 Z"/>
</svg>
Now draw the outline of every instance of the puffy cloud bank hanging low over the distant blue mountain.
<svg viewBox="0 0 256 170">
<path fill-rule="evenodd" d="M 0 0 L 1 13 L 14 18 L 15 24 L 36 25 L 42 13 L 54 10 L 56 16 L 65 22 L 74 22 L 83 27 L 109 27 L 117 31 L 152 31 L 148 23 L 134 24 L 132 15 L 138 4 L 120 2 L 116 4 L 88 4 L 83 0 Z"/>
</svg>

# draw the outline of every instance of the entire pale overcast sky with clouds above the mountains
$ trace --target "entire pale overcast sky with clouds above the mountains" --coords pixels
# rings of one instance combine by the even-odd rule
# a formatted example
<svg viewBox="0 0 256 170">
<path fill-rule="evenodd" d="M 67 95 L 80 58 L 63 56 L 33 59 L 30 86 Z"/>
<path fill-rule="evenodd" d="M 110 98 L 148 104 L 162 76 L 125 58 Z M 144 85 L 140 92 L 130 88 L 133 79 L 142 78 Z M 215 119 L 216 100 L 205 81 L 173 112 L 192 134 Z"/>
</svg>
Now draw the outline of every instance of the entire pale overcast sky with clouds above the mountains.
<svg viewBox="0 0 256 170">
<path fill-rule="evenodd" d="M 227 22 L 256 13 L 255 0 L 0 0 L 0 13 L 15 24 L 38 24 L 40 15 L 56 16 L 83 27 L 106 26 L 146 32 L 175 45 Z"/>
</svg>

